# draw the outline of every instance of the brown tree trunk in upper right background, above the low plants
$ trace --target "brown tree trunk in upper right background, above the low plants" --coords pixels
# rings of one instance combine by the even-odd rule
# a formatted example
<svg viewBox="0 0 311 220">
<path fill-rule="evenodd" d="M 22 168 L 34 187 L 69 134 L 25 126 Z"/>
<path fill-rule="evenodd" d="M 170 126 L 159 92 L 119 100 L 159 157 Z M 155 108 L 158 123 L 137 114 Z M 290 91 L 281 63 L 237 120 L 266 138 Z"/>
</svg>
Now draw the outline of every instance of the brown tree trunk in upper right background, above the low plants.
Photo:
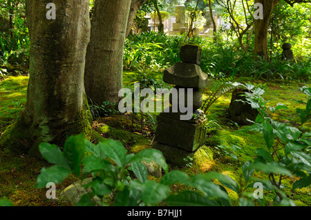
<svg viewBox="0 0 311 220">
<path fill-rule="evenodd" d="M 269 21 L 272 10 L 279 0 L 256 0 L 255 3 L 263 4 L 263 19 L 256 19 L 255 23 L 255 45 L 254 54 L 261 55 L 265 60 L 268 60 L 267 50 L 267 35 L 269 28 Z"/>
</svg>

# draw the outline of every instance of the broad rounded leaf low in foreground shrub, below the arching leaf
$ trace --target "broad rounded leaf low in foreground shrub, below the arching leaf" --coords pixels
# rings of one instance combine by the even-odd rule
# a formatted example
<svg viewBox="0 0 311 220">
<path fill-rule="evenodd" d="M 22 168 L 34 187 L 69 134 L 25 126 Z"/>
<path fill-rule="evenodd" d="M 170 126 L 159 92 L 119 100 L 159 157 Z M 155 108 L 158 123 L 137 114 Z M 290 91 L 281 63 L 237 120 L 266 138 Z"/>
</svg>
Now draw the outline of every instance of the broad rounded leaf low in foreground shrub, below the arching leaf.
<svg viewBox="0 0 311 220">
<path fill-rule="evenodd" d="M 142 201 L 147 205 L 159 203 L 167 197 L 170 190 L 169 186 L 147 180 L 142 185 Z"/>
</svg>

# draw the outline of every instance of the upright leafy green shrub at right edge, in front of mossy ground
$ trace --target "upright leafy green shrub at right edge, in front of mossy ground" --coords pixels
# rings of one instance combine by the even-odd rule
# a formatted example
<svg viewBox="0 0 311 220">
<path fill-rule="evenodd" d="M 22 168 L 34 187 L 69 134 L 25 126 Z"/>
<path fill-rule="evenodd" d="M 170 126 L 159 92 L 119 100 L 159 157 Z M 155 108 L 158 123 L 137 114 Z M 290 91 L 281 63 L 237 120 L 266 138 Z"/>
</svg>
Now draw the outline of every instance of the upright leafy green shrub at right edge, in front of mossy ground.
<svg viewBox="0 0 311 220">
<path fill-rule="evenodd" d="M 256 108 L 259 112 L 254 125 L 245 128 L 245 130 L 259 131 L 263 133 L 266 148 L 256 150 L 257 157 L 254 162 L 249 161 L 249 166 L 245 170 L 262 171 L 269 174 L 269 186 L 275 192 L 277 197 L 274 198 L 275 203 L 281 203 L 283 200 L 288 201 L 286 195 L 282 192 L 284 188 L 282 180 L 287 177 L 300 177 L 294 182 L 292 190 L 295 188 L 303 188 L 311 184 L 311 156 L 305 152 L 305 149 L 310 146 L 311 134 L 305 132 L 303 123 L 306 116 L 310 118 L 310 96 L 305 107 L 301 124 L 298 127 L 290 126 L 288 123 L 281 123 L 274 119 L 274 115 L 281 109 L 287 109 L 287 106 L 279 103 L 277 106 L 267 106 L 261 95 L 265 92 L 261 88 L 254 88 L 250 84 L 242 85 L 252 92 L 246 92 L 245 97 L 247 103 L 252 108 Z M 310 88 L 301 88 L 305 94 L 310 93 Z M 299 129 L 300 128 L 300 129 Z M 279 178 L 279 179 L 278 179 Z M 267 182 L 265 182 L 267 183 Z"/>
</svg>

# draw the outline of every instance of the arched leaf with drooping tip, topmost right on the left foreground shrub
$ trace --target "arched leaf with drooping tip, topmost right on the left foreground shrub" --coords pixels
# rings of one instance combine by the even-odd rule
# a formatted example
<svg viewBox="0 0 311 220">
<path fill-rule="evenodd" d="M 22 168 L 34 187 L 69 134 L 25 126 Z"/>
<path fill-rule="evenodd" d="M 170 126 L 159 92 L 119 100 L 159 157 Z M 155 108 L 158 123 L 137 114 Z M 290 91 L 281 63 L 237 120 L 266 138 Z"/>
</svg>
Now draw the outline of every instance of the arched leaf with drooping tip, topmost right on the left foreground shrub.
<svg viewBox="0 0 311 220">
<path fill-rule="evenodd" d="M 135 154 L 135 156 L 131 157 L 129 163 L 133 163 L 135 161 L 155 161 L 160 166 L 162 166 L 165 172 L 167 172 L 169 169 L 169 166 L 167 165 L 167 162 L 165 161 L 162 152 L 153 148 L 138 152 L 137 154 Z"/>
</svg>

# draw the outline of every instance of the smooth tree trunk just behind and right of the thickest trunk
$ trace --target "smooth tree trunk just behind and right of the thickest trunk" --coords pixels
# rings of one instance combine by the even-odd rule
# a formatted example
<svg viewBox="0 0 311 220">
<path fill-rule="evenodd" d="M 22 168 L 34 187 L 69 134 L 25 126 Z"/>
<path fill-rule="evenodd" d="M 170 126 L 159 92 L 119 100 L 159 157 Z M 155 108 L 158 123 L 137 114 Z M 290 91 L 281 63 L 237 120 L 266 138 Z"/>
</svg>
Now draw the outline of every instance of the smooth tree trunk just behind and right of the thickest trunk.
<svg viewBox="0 0 311 220">
<path fill-rule="evenodd" d="M 131 1 L 95 1 L 91 40 L 86 52 L 84 85 L 91 101 L 118 103 L 123 50 Z"/>
</svg>

